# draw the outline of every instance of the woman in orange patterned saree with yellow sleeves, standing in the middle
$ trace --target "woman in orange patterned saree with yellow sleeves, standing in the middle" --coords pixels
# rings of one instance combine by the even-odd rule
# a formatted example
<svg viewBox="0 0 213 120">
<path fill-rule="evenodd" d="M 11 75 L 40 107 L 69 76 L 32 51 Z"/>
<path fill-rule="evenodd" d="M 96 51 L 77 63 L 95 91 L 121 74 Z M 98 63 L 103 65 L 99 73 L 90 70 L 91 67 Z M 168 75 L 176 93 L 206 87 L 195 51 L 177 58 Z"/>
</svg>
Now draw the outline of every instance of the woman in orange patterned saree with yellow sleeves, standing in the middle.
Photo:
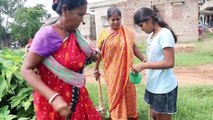
<svg viewBox="0 0 213 120">
<path fill-rule="evenodd" d="M 134 55 L 141 61 L 145 58 L 135 45 L 134 34 L 121 25 L 120 10 L 109 8 L 107 17 L 110 28 L 99 33 L 97 46 L 102 51 L 102 56 L 96 62 L 94 74 L 96 79 L 100 77 L 98 66 L 102 59 L 111 119 L 137 120 L 136 90 L 129 81 L 129 71 Z"/>
</svg>

